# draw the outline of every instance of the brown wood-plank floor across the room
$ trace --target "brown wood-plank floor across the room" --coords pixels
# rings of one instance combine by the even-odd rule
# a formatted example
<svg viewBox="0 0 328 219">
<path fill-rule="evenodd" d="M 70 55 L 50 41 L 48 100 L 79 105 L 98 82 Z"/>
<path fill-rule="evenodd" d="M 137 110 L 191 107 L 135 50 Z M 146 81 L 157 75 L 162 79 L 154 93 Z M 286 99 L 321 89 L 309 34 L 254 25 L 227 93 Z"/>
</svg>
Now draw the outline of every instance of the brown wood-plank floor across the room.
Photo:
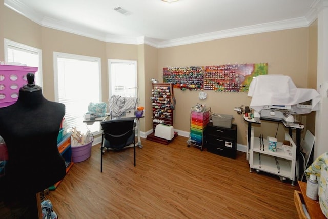
<svg viewBox="0 0 328 219">
<path fill-rule="evenodd" d="M 58 218 L 297 218 L 291 182 L 249 172 L 236 160 L 187 147 L 178 136 L 162 145 L 142 139 L 142 149 L 75 163 L 49 198 Z"/>
</svg>

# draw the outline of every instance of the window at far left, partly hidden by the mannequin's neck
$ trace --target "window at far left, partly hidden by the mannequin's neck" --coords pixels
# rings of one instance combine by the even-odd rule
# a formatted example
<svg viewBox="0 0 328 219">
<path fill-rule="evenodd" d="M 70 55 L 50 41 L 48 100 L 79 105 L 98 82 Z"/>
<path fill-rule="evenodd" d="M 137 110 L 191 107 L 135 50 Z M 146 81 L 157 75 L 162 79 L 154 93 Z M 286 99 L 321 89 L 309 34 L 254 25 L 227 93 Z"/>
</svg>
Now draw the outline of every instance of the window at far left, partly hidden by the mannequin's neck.
<svg viewBox="0 0 328 219">
<path fill-rule="evenodd" d="M 42 53 L 40 49 L 5 39 L 5 61 L 8 65 L 27 65 L 38 67 L 35 84 L 42 87 Z"/>
</svg>

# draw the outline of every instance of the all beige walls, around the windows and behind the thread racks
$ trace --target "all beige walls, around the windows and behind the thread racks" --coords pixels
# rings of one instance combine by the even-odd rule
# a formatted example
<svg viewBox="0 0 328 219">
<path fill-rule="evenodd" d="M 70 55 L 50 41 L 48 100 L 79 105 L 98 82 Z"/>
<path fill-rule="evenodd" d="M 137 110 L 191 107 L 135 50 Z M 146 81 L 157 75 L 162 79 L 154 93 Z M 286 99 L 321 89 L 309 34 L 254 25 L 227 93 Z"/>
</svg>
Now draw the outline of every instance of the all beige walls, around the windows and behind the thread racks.
<svg viewBox="0 0 328 219">
<path fill-rule="evenodd" d="M 41 27 L 3 6 L 0 7 L 0 16 L 5 18 L 0 21 L 0 36 L 2 38 L 42 49 L 43 89 L 48 99 L 54 99 L 54 51 L 101 58 L 101 78 L 103 80 L 101 86 L 104 102 L 107 102 L 109 98 L 108 59 L 137 60 L 141 105 L 145 105 L 146 109 L 145 120 L 141 122 L 140 127 L 140 130 L 144 132 L 152 129 L 150 78 L 157 78 L 162 81 L 163 67 L 219 65 L 229 62 L 267 62 L 269 64 L 269 74 L 289 75 L 297 87 L 306 88 L 308 87 L 306 78 L 312 78 L 313 74 L 308 69 L 316 62 L 316 58 L 313 61 L 308 60 L 308 45 L 313 44 L 312 37 L 315 37 L 312 32 L 312 34 L 309 34 L 311 27 L 157 49 L 148 45 L 105 43 L 88 37 Z M 0 49 L 0 53 L 4 54 L 3 44 Z M 311 70 L 315 72 L 312 67 Z M 311 75 L 308 75 L 308 73 Z M 233 109 L 240 105 L 249 105 L 251 99 L 247 96 L 247 93 L 207 91 L 208 98 L 204 101 L 198 99 L 199 91 L 175 89 L 174 93 L 177 100 L 176 110 L 174 111 L 175 129 L 189 132 L 190 108 L 197 103 L 206 104 L 211 107 L 212 112 L 232 114 L 234 116 L 234 123 L 238 125 L 237 142 L 246 145 L 245 131 L 247 124 Z M 262 123 L 260 127 L 256 127 L 255 131 L 272 136 L 276 128 L 276 124 L 267 122 Z M 270 131 L 263 131 L 268 129 Z M 278 137 L 283 136 L 283 131 L 284 128 L 280 125 Z"/>
</svg>

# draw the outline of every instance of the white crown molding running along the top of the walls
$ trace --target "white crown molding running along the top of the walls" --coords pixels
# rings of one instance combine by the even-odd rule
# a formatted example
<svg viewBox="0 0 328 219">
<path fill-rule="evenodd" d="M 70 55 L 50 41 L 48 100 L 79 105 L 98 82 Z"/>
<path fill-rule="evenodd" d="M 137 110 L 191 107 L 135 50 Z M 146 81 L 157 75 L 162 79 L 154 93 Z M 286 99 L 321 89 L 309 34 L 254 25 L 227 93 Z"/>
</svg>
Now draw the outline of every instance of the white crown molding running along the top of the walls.
<svg viewBox="0 0 328 219">
<path fill-rule="evenodd" d="M 206 34 L 199 34 L 189 37 L 172 39 L 169 41 L 159 41 L 153 38 L 148 38 L 146 36 L 130 37 L 130 36 L 119 36 L 108 34 L 103 31 L 90 29 L 85 26 L 79 26 L 69 22 L 59 21 L 49 17 L 39 16 L 31 8 L 27 7 L 25 4 L 19 0 L 5 0 L 5 6 L 16 11 L 19 14 L 31 19 L 33 22 L 43 26 L 60 31 L 65 31 L 81 36 L 86 36 L 89 38 L 97 39 L 99 41 L 104 41 L 107 43 L 122 43 L 122 44 L 147 44 L 155 48 L 166 48 L 173 46 L 180 46 L 186 44 L 200 43 L 205 41 L 212 41 L 215 39 L 222 39 L 228 37 L 264 33 L 285 29 L 308 27 L 316 18 L 318 12 L 318 5 L 320 8 L 326 7 L 328 0 L 315 0 L 311 6 L 311 10 L 308 12 L 306 17 L 299 17 L 295 19 L 288 19 L 278 22 L 270 22 L 258 25 L 251 25 L 241 28 L 233 28 L 229 30 L 216 31 Z"/>
</svg>

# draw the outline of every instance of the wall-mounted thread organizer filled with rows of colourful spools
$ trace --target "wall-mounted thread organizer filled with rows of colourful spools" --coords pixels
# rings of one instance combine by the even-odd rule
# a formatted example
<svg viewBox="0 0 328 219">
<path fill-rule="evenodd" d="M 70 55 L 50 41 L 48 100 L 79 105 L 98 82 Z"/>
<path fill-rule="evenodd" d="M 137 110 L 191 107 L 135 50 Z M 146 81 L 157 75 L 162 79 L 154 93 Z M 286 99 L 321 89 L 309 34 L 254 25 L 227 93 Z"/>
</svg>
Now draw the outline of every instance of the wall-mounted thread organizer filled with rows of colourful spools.
<svg viewBox="0 0 328 219">
<path fill-rule="evenodd" d="M 268 63 L 167 67 L 163 82 L 181 90 L 248 92 L 253 77 L 264 74 L 268 74 Z"/>
</svg>

